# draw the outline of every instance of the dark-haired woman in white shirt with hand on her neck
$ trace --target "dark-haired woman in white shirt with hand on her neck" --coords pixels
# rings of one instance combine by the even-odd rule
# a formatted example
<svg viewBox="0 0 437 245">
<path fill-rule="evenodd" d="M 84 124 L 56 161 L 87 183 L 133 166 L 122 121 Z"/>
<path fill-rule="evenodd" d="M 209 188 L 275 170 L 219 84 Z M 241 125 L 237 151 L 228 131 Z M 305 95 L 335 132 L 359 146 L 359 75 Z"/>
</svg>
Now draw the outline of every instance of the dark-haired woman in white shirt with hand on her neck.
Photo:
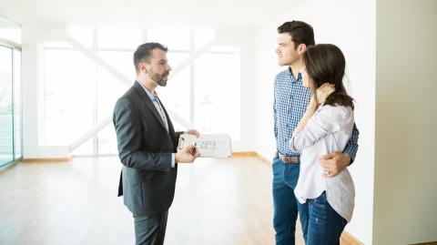
<svg viewBox="0 0 437 245">
<path fill-rule="evenodd" d="M 339 47 L 311 46 L 303 63 L 303 86 L 311 88 L 313 97 L 290 139 L 290 148 L 301 151 L 294 191 L 300 203 L 309 203 L 307 245 L 340 244 L 341 232 L 352 216 L 353 181 L 347 168 L 330 178 L 320 158 L 343 151 L 351 138 L 353 98 L 342 84 L 345 59 Z"/>
</svg>

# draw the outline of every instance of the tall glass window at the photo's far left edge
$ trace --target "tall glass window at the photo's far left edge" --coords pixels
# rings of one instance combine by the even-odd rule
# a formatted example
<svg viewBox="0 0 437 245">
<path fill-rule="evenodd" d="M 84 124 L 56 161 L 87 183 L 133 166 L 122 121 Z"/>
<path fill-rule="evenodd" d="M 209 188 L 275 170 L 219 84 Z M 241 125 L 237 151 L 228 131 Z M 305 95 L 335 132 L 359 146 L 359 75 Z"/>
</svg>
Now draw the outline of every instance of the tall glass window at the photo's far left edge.
<svg viewBox="0 0 437 245">
<path fill-rule="evenodd" d="M 0 16 L 0 168 L 23 158 L 20 27 Z"/>
</svg>

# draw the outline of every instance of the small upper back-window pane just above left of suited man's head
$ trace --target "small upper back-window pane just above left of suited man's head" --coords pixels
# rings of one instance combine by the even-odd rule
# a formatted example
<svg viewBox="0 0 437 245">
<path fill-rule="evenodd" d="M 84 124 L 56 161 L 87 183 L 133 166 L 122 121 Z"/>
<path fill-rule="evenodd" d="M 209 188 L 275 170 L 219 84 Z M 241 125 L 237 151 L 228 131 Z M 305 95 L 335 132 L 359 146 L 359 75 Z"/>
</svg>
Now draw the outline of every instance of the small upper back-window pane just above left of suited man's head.
<svg viewBox="0 0 437 245">
<path fill-rule="evenodd" d="M 127 48 L 136 50 L 142 44 L 140 29 L 109 29 L 97 30 L 97 48 Z"/>
</svg>

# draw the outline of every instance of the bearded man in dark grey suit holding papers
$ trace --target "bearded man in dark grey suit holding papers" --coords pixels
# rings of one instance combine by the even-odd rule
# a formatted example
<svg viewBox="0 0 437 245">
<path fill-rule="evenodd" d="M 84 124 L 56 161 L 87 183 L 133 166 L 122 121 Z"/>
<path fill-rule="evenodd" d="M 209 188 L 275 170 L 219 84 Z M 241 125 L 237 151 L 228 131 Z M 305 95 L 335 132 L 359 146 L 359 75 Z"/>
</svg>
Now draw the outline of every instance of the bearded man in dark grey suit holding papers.
<svg viewBox="0 0 437 245">
<path fill-rule="evenodd" d="M 123 164 L 118 196 L 134 216 L 136 244 L 163 244 L 168 209 L 175 194 L 179 163 L 192 163 L 194 146 L 177 151 L 178 138 L 155 91 L 167 85 L 167 47 L 147 43 L 137 47 L 137 81 L 114 108 L 118 155 Z M 189 134 L 197 135 L 195 129 Z"/>
</svg>

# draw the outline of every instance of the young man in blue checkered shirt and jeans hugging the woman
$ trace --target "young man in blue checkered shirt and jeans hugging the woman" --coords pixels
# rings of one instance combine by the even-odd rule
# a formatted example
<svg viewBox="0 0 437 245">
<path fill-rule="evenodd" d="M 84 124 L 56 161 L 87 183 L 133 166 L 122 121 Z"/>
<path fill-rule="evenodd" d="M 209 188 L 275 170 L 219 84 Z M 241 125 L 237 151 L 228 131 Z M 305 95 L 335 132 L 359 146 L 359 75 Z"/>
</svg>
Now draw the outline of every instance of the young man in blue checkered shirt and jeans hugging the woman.
<svg viewBox="0 0 437 245">
<path fill-rule="evenodd" d="M 307 46 L 313 46 L 314 32 L 301 21 L 286 22 L 278 27 L 279 66 L 288 66 L 275 78 L 274 133 L 277 154 L 273 159 L 273 226 L 276 244 L 295 244 L 298 210 L 304 240 L 309 225 L 308 205 L 300 204 L 294 196 L 299 179 L 300 152 L 290 150 L 289 141 L 310 102 L 311 92 L 302 86 L 300 68 Z M 334 177 L 351 164 L 358 150 L 358 129 L 354 126 L 352 138 L 343 153 L 332 152 L 320 164 L 329 177 Z"/>
</svg>

